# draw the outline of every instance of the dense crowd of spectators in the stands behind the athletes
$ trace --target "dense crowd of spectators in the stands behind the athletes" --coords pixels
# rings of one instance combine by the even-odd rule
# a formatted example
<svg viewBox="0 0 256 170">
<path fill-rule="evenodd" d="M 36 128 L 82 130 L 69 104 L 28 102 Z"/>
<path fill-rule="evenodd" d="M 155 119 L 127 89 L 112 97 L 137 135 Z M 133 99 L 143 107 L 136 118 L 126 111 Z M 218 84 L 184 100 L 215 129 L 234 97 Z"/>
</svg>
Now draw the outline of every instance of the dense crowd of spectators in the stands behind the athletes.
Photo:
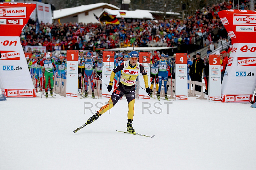
<svg viewBox="0 0 256 170">
<path fill-rule="evenodd" d="M 219 36 L 226 37 L 217 12 L 231 9 L 230 1 L 207 6 L 196 10 L 194 15 L 184 21 L 169 19 L 141 22 L 120 22 L 119 25 L 101 25 L 100 23 L 40 23 L 29 20 L 20 35 L 22 46 L 42 45 L 47 51 L 54 50 L 92 50 L 96 48 L 119 48 L 131 46 L 177 46 L 176 52 L 192 52 L 217 41 Z M 218 28 L 218 29 L 217 29 Z M 108 38 L 107 38 L 108 37 Z M 26 52 L 26 51 L 25 51 Z"/>
</svg>

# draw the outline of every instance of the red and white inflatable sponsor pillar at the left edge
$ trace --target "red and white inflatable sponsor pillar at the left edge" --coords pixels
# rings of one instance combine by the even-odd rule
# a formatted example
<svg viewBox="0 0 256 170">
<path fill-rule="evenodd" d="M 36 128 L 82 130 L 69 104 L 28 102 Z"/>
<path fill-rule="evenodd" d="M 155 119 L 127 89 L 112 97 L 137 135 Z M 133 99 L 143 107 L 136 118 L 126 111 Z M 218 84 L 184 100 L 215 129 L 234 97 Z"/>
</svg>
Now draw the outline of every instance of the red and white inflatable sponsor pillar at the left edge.
<svg viewBox="0 0 256 170">
<path fill-rule="evenodd" d="M 0 84 L 5 97 L 36 97 L 19 37 L 35 8 L 30 3 L 0 3 Z"/>
</svg>

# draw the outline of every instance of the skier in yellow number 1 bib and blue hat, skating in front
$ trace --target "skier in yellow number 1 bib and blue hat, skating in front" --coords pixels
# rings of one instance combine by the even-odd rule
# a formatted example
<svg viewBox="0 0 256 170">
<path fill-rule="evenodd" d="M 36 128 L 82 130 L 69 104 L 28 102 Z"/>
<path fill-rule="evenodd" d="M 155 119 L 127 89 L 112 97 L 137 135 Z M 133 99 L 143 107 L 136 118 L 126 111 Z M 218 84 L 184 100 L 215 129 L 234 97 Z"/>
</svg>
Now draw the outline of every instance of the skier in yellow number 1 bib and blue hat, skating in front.
<svg viewBox="0 0 256 170">
<path fill-rule="evenodd" d="M 127 122 L 127 131 L 130 133 L 135 133 L 134 128 L 132 127 L 132 121 L 134 116 L 134 102 L 135 102 L 135 81 L 138 77 L 139 73 L 143 75 L 146 91 L 148 95 L 150 95 L 150 90 L 148 86 L 148 77 L 147 72 L 145 71 L 144 67 L 138 62 L 138 53 L 136 51 L 132 51 L 129 55 L 130 60 L 125 61 L 115 67 L 111 73 L 109 85 L 107 87 L 108 91 L 112 90 L 113 80 L 115 74 L 118 71 L 122 71 L 120 82 L 118 83 L 118 87 L 116 87 L 108 101 L 108 104 L 102 106 L 97 113 L 95 113 L 92 117 L 90 117 L 87 122 L 77 128 L 74 133 L 84 126 L 91 124 L 95 120 L 97 120 L 103 113 L 107 112 L 109 109 L 114 107 L 118 100 L 125 94 L 127 102 L 128 102 L 128 122 Z"/>
</svg>

